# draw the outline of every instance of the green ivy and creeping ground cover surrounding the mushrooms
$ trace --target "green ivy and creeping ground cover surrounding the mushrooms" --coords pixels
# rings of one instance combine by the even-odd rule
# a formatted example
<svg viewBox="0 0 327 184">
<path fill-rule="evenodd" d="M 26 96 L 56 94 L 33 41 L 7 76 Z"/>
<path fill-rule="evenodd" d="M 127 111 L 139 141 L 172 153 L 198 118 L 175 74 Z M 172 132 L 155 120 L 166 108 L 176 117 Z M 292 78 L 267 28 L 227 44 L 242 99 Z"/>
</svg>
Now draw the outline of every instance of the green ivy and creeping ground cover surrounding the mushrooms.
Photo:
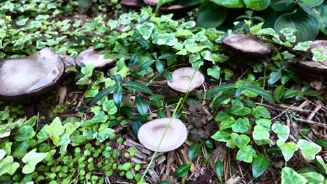
<svg viewBox="0 0 327 184">
<path fill-rule="evenodd" d="M 305 10 L 303 3 L 296 6 Z M 0 102 L 1 183 L 326 183 L 326 75 L 298 70 L 303 60 L 324 67 L 324 49 L 310 47 L 317 34 L 269 27 L 252 17 L 256 8 L 224 31 L 196 24 L 201 7 L 178 18 L 115 1 L 0 7 L 0 69 L 4 59 L 44 47 L 73 58 L 97 49 L 115 61 L 65 63 L 55 90 Z M 232 33 L 259 38 L 271 52 L 230 49 Z M 205 82 L 171 89 L 167 82 L 182 67 Z M 166 126 L 150 151 L 138 130 L 166 117 L 186 125 L 187 141 L 157 152 Z"/>
</svg>

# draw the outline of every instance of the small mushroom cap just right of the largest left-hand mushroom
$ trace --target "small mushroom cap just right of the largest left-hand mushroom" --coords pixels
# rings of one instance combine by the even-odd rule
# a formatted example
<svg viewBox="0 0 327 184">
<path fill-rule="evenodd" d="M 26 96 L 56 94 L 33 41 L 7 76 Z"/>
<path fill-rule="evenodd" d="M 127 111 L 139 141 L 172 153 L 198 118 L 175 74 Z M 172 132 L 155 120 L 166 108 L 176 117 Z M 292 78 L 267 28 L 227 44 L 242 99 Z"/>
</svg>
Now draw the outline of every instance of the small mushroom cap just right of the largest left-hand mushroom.
<svg viewBox="0 0 327 184">
<path fill-rule="evenodd" d="M 82 63 L 84 63 L 85 66 L 89 66 L 93 63 L 95 68 L 102 68 L 115 62 L 112 59 L 103 59 L 103 56 L 104 54 L 101 54 L 98 50 L 86 49 L 85 51 L 78 54 L 78 57 L 76 58 L 76 64 L 81 66 Z"/>
</svg>

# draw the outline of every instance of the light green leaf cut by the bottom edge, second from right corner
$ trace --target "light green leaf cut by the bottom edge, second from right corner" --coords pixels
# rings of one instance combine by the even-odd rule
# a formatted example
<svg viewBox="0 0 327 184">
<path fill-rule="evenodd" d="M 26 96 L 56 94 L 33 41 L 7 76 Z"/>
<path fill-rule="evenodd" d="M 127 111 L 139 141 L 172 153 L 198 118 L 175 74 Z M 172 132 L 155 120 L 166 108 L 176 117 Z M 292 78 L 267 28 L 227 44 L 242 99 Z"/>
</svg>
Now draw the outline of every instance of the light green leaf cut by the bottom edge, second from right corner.
<svg viewBox="0 0 327 184">
<path fill-rule="evenodd" d="M 293 169 L 289 167 L 284 167 L 282 169 L 282 184 L 296 183 L 305 184 L 307 181 L 303 176 L 296 173 Z"/>
</svg>

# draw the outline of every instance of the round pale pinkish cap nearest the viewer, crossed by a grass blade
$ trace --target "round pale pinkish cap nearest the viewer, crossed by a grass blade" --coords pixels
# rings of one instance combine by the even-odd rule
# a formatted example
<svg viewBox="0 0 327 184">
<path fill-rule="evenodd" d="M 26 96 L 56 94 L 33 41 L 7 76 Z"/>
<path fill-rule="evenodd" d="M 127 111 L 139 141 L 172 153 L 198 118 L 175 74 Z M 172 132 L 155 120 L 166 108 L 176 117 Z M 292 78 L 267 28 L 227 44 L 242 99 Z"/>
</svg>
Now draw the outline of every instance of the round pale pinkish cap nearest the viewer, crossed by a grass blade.
<svg viewBox="0 0 327 184">
<path fill-rule="evenodd" d="M 142 125 L 138 130 L 138 139 L 140 143 L 143 144 L 145 148 L 156 151 L 169 121 L 170 118 L 157 118 Z M 177 118 L 173 118 L 158 151 L 172 151 L 182 146 L 186 139 L 187 128 L 184 123 Z"/>
</svg>

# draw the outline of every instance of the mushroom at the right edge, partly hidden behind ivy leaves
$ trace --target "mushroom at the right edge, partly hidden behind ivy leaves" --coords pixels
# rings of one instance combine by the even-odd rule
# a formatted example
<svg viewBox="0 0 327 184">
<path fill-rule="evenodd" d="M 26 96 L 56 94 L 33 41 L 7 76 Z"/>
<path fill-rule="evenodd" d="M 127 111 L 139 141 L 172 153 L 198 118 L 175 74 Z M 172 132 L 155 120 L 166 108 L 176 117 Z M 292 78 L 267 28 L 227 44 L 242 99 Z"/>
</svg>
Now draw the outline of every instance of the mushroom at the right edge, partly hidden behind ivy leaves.
<svg viewBox="0 0 327 184">
<path fill-rule="evenodd" d="M 310 51 L 314 48 L 324 49 L 323 54 L 327 55 L 327 40 L 315 40 L 310 47 Z M 327 78 L 327 60 L 299 61 L 297 65 L 303 70 L 303 72 L 309 75 L 320 75 L 319 77 Z"/>
</svg>

